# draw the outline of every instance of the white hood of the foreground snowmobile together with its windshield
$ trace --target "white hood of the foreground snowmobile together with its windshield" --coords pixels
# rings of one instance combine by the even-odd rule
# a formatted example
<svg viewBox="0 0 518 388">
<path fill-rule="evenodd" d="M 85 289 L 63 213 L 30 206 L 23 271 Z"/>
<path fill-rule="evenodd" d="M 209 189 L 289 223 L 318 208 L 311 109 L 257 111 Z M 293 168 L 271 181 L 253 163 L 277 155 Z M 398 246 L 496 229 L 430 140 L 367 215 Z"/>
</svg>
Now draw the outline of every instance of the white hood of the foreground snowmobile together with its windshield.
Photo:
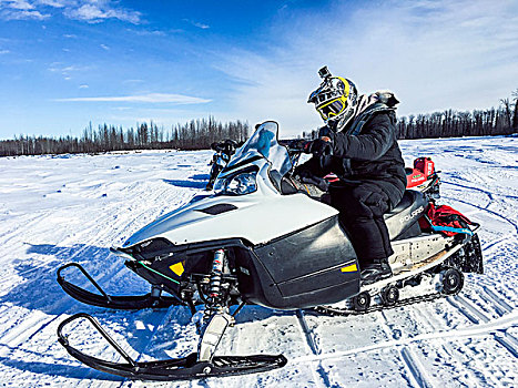
<svg viewBox="0 0 518 388">
<path fill-rule="evenodd" d="M 293 163 L 287 149 L 278 144 L 277 132 L 277 123 L 263 123 L 220 173 L 214 185 L 219 194 L 162 216 L 123 247 L 153 238 L 175 245 L 241 238 L 256 245 L 336 215 L 336 210 L 305 194 L 281 194 L 280 180 Z M 245 183 L 236 178 L 243 175 Z M 240 190 L 232 188 L 235 182 Z"/>
</svg>

